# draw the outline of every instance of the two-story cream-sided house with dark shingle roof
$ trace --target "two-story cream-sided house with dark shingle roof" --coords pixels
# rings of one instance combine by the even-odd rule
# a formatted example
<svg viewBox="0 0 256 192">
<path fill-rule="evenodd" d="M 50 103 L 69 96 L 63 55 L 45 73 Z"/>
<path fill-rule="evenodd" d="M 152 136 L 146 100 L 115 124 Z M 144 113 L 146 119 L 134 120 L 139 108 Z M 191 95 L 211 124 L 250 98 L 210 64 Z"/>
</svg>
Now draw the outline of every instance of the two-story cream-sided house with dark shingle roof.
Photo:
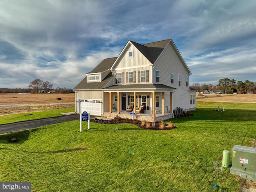
<svg viewBox="0 0 256 192">
<path fill-rule="evenodd" d="M 82 107 L 93 115 L 130 117 L 132 106 L 139 120 L 145 115 L 169 119 L 177 108 L 196 109 L 190 74 L 172 39 L 143 45 L 128 41 L 118 57 L 104 59 L 73 89 L 76 112 Z"/>
</svg>

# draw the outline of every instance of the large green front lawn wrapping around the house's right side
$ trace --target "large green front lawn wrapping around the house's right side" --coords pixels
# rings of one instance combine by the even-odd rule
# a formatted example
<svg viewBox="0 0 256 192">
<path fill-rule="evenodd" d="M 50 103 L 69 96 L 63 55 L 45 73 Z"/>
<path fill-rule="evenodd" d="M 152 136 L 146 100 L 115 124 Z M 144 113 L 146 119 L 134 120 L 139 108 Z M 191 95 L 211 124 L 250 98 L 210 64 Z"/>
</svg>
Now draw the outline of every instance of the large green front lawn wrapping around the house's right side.
<svg viewBox="0 0 256 192">
<path fill-rule="evenodd" d="M 0 180 L 30 181 L 40 192 L 239 192 L 242 179 L 219 158 L 235 144 L 254 145 L 256 104 L 214 111 L 218 104 L 198 102 L 194 116 L 172 119 L 174 130 L 96 123 L 86 130 L 83 122 L 80 132 L 77 120 L 2 134 Z"/>
</svg>

